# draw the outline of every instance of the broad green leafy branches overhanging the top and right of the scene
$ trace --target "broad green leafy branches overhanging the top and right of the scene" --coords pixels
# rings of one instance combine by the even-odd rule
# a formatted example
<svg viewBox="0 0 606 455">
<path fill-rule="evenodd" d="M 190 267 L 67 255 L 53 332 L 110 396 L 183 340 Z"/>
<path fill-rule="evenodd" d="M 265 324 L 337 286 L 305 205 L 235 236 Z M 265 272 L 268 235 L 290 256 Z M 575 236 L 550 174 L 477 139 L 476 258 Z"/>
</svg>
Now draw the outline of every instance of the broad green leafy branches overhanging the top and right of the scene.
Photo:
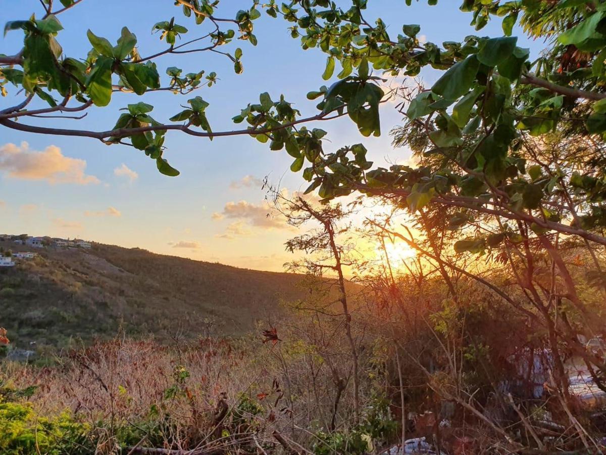
<svg viewBox="0 0 606 455">
<path fill-rule="evenodd" d="M 44 14 L 10 21 L 4 33 L 24 34 L 22 49 L 0 56 L 2 94 L 20 90 L 24 99 L 0 110 L 0 125 L 29 133 L 95 138 L 124 144 L 156 161 L 162 174 L 178 170 L 165 159 L 165 133 L 177 130 L 213 140 L 217 136 L 250 135 L 271 150 L 293 158 L 291 170 L 331 200 L 352 192 L 390 197 L 411 211 L 428 203 L 454 207 L 450 223 L 458 229 L 470 214 L 498 214 L 523 221 L 536 234 L 548 231 L 573 234 L 606 244 L 604 137 L 606 134 L 606 2 L 603 0 L 465 0 L 478 35 L 463 41 L 421 42 L 422 25 L 403 24 L 390 30 L 381 18 L 365 17 L 371 0 L 331 2 L 295 0 L 278 4 L 254 0 L 248 10 L 221 18 L 219 1 L 176 0 L 179 18 L 159 21 L 153 33 L 165 49 L 141 55 L 137 38 L 127 27 L 117 42 L 88 30 L 91 50 L 86 56 L 64 55 L 60 44 L 61 13 L 83 0 L 42 0 Z M 412 0 L 406 0 L 410 5 Z M 437 0 L 428 0 L 440 12 Z M 82 5 L 84 7 L 84 5 Z M 402 8 L 406 6 L 402 4 Z M 304 118 L 284 96 L 271 99 L 261 93 L 233 117 L 242 129 L 214 131 L 208 103 L 193 92 L 216 83 L 216 73 L 183 74 L 179 67 L 159 69 L 155 59 L 182 54 L 221 53 L 236 73 L 244 70 L 243 51 L 224 52 L 222 46 L 238 38 L 257 45 L 255 20 L 262 13 L 284 20 L 303 49 L 326 54 L 322 78 L 338 72 L 339 81 L 307 94 L 318 100 L 318 113 Z M 184 17 L 185 16 L 185 17 Z M 210 32 L 193 33 L 181 19 L 193 16 L 196 25 L 211 24 Z M 190 19 L 191 20 L 191 19 Z M 481 36 L 491 20 L 500 20 L 502 36 Z M 544 39 L 546 49 L 530 61 L 528 49 L 518 46 L 514 30 Z M 431 37 L 429 37 L 431 38 Z M 230 48 L 231 49 L 231 48 Z M 361 143 L 327 153 L 321 129 L 306 123 L 348 116 L 362 136 L 380 135 L 379 107 L 385 101 L 380 82 L 385 75 L 416 76 L 422 68 L 442 72 L 428 89 L 403 95 L 399 109 L 404 123 L 395 130 L 395 144 L 408 146 L 419 166 L 388 169 L 367 161 Z M 166 76 L 161 73 L 165 73 Z M 167 82 L 168 81 L 168 82 Z M 11 86 L 14 86 L 11 87 Z M 312 88 L 312 87 L 310 87 Z M 187 97 L 187 107 L 171 113 L 167 122 L 152 116 L 145 103 L 150 92 L 168 90 Z M 139 103 L 128 104 L 107 130 L 59 129 L 35 125 L 36 118 L 78 115 L 107 106 L 116 92 L 133 92 Z M 33 98 L 48 107 L 28 109 Z M 77 118 L 77 117 L 76 117 Z M 553 136 L 575 138 L 573 153 L 550 153 Z M 528 144 L 533 144 L 529 151 Z M 553 151 L 553 150 L 552 150 Z M 496 237 L 459 241 L 458 251 L 481 252 L 504 238 L 514 238 L 505 227 Z"/>
</svg>

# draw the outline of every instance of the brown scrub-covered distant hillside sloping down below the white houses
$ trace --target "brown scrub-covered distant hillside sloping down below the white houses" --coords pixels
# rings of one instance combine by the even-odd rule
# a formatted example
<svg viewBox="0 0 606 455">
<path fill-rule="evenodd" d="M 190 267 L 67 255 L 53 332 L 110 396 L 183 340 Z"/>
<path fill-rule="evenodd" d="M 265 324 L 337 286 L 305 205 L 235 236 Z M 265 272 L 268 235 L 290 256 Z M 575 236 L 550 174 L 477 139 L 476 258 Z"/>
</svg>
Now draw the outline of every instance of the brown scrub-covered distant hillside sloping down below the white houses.
<svg viewBox="0 0 606 455">
<path fill-rule="evenodd" d="M 50 247 L 39 254 L 0 270 L 0 326 L 21 347 L 62 346 L 70 337 L 113 336 L 119 328 L 160 339 L 241 334 L 258 320 L 276 318 L 281 300 L 307 292 L 302 275 L 138 248 L 95 244 L 89 251 Z"/>
</svg>

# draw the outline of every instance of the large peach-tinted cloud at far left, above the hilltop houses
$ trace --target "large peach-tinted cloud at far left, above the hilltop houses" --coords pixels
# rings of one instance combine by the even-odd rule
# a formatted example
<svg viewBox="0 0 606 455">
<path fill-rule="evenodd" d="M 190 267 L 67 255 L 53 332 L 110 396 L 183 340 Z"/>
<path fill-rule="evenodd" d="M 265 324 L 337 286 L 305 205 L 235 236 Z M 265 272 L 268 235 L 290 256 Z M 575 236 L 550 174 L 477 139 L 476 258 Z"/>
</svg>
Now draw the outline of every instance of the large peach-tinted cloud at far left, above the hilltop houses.
<svg viewBox="0 0 606 455">
<path fill-rule="evenodd" d="M 48 146 L 41 152 L 31 150 L 27 142 L 21 146 L 8 143 L 0 147 L 0 170 L 8 177 L 23 180 L 45 180 L 48 183 L 97 184 L 99 179 L 84 173 L 86 161 L 65 157 L 61 149 Z"/>
</svg>

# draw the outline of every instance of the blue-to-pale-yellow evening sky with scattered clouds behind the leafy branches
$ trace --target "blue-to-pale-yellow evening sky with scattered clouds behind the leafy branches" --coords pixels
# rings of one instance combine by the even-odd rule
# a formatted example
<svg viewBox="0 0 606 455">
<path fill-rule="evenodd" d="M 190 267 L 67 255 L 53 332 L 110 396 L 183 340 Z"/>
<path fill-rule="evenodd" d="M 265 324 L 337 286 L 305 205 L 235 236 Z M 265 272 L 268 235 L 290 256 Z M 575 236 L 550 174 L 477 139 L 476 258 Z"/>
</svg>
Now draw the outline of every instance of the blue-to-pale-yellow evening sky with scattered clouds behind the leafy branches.
<svg viewBox="0 0 606 455">
<path fill-rule="evenodd" d="M 348 1 L 337 3 L 346 6 Z M 368 3 L 365 18 L 374 21 L 381 17 L 394 37 L 401 33 L 402 24 L 421 24 L 421 38 L 436 43 L 461 40 L 471 34 L 502 36 L 500 20 L 475 32 L 468 25 L 471 15 L 458 10 L 459 1 L 441 0 L 433 7 L 424 0 L 413 2 L 410 7 L 402 0 Z M 239 9 L 250 4 L 223 0 L 216 16 L 233 18 Z M 1 9 L 4 20 L 25 19 L 32 13 L 42 16 L 38 0 L 2 0 Z M 133 0 L 84 0 L 59 16 L 64 30 L 57 39 L 65 55 L 85 58 L 91 47 L 87 29 L 115 42 L 121 28 L 127 26 L 138 38 L 139 53 L 150 55 L 166 47 L 159 35 L 151 33 L 153 24 L 172 16 L 176 23 L 189 29 L 185 35 L 188 39 L 207 33 L 207 25 L 195 25 L 193 16 L 185 18 L 170 0 L 149 0 L 144 8 Z M 239 129 L 241 125 L 233 124 L 231 117 L 248 103 L 258 103 L 262 92 L 269 92 L 273 99 L 284 94 L 303 115 L 315 115 L 316 102 L 308 101 L 305 95 L 334 81 L 327 83 L 321 78 L 325 55 L 318 49 L 302 50 L 299 39 L 290 38 L 290 25 L 263 13 L 255 21 L 256 47 L 240 40 L 221 47 L 231 53 L 236 47 L 242 48 L 241 75 L 234 73 L 233 64 L 225 57 L 204 52 L 157 59 L 161 80 L 168 83 L 164 70 L 170 66 L 180 67 L 184 73 L 216 72 L 216 86 L 191 94 L 210 103 L 206 112 L 214 131 Z M 541 43 L 528 41 L 519 30 L 518 36 L 518 45 L 530 47 L 531 56 L 541 50 Z M 0 39 L 0 54 L 18 52 L 22 39 L 20 31 L 7 33 Z M 425 85 L 438 77 L 439 73 L 431 69 L 422 72 Z M 390 84 L 401 81 L 396 79 Z M 8 96 L 0 98 L 0 110 L 22 99 L 14 87 L 7 89 Z M 115 124 L 119 109 L 138 101 L 153 104 L 151 115 L 158 121 L 167 121 L 192 96 L 170 92 L 144 97 L 115 93 L 109 106 L 90 109 L 82 120 L 36 118 L 24 123 L 108 130 Z M 395 103 L 382 106 L 381 121 L 379 138 L 359 135 L 347 117 L 308 127 L 328 131 L 325 150 L 363 143 L 369 150 L 369 159 L 378 165 L 407 162 L 410 152 L 393 149 L 388 135 L 402 121 Z M 282 271 L 282 265 L 292 260 L 284 250 L 284 242 L 296 231 L 280 218 L 267 217 L 270 211 L 261 186 L 267 176 L 270 183 L 288 192 L 307 187 L 301 173 L 290 172 L 291 158 L 287 153 L 271 152 L 267 144 L 248 136 L 209 141 L 168 132 L 165 146 L 168 149 L 164 157 L 181 171 L 179 177 L 159 174 L 155 163 L 132 147 L 0 127 L 0 233 L 77 237 L 242 268 Z"/>
</svg>

